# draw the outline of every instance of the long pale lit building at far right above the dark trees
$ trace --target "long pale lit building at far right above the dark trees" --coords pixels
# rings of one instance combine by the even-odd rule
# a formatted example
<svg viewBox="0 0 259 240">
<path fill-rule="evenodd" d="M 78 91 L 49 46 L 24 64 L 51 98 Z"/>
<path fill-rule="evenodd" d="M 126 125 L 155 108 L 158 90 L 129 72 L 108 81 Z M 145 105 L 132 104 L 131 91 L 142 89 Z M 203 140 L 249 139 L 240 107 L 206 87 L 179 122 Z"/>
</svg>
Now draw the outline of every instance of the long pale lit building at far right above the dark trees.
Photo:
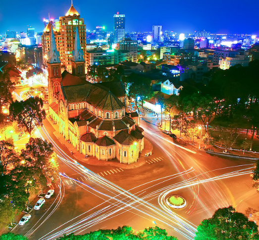
<svg viewBox="0 0 259 240">
<path fill-rule="evenodd" d="M 252 55 L 236 55 L 235 57 L 219 58 L 219 68 L 226 70 L 232 66 L 240 64 L 242 67 L 248 67 L 252 60 Z"/>
</svg>

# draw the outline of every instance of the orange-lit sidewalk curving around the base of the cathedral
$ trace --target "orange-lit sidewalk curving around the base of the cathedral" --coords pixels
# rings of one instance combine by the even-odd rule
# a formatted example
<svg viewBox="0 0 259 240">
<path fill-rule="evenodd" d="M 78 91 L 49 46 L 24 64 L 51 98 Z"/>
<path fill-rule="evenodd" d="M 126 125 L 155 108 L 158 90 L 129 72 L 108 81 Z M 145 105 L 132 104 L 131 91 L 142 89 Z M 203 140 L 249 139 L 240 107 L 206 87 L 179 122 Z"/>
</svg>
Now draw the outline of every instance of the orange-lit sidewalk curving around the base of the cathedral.
<svg viewBox="0 0 259 240">
<path fill-rule="evenodd" d="M 72 158 L 90 164 L 90 165 L 100 165 L 100 166 L 114 166 L 114 167 L 120 167 L 123 169 L 132 169 L 132 168 L 136 168 L 136 167 L 140 167 L 143 164 L 145 164 L 145 155 L 152 152 L 153 151 L 153 146 L 152 144 L 146 139 L 144 138 L 144 149 L 142 151 L 142 153 L 140 154 L 140 157 L 138 159 L 138 161 L 136 163 L 131 163 L 131 164 L 123 164 L 123 163 L 119 163 L 118 160 L 113 159 L 113 160 L 108 160 L 108 161 L 104 161 L 104 160 L 98 160 L 96 157 L 88 157 L 85 158 L 85 156 L 83 154 L 81 154 L 80 152 L 78 152 L 74 146 L 71 143 L 68 143 L 65 138 L 63 137 L 62 134 L 60 134 L 58 132 L 58 125 L 57 124 L 53 124 L 53 121 L 49 118 L 49 115 L 47 115 L 48 121 L 52 124 L 52 127 L 55 129 L 55 131 L 53 132 L 53 134 L 55 135 L 55 137 L 58 139 L 58 141 L 65 145 L 66 148 L 68 149 L 69 152 L 72 151 L 73 155 L 71 155 Z"/>
</svg>

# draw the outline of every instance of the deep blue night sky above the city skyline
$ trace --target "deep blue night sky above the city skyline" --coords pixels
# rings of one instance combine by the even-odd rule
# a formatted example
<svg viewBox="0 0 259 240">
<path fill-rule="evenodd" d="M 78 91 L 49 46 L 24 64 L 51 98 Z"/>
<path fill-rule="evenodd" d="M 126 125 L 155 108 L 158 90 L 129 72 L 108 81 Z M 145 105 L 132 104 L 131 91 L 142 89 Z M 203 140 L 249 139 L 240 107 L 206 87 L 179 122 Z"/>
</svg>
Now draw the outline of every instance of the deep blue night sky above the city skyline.
<svg viewBox="0 0 259 240">
<path fill-rule="evenodd" d="M 43 32 L 43 19 L 64 16 L 69 0 L 3 0 L 0 4 L 0 34 L 5 31 L 27 31 L 28 26 Z M 105 26 L 113 31 L 113 14 L 126 15 L 126 31 L 162 31 L 211 33 L 247 33 L 259 35 L 259 0 L 73 0 L 73 6 L 84 18 L 86 28 Z"/>
</svg>

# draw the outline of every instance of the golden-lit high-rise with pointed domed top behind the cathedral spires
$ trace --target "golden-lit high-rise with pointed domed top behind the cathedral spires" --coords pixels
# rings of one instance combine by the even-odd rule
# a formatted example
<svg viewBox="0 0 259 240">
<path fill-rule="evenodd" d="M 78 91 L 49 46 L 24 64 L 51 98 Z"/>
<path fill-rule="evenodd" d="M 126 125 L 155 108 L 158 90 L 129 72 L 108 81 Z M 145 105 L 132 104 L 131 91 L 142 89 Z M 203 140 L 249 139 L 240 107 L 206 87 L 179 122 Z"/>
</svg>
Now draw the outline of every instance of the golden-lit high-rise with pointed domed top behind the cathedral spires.
<svg viewBox="0 0 259 240">
<path fill-rule="evenodd" d="M 57 51 L 60 54 L 60 61 L 62 68 L 72 73 L 72 51 L 74 50 L 76 28 L 78 27 L 78 34 L 81 42 L 81 48 L 86 55 L 86 26 L 84 19 L 80 18 L 79 13 L 71 4 L 65 16 L 59 17 L 59 21 L 55 23 L 53 29 L 55 36 L 55 43 Z M 50 21 L 46 26 L 42 37 L 42 52 L 43 52 L 43 68 L 47 70 L 47 52 L 50 50 L 50 33 L 52 29 L 52 22 Z"/>
</svg>

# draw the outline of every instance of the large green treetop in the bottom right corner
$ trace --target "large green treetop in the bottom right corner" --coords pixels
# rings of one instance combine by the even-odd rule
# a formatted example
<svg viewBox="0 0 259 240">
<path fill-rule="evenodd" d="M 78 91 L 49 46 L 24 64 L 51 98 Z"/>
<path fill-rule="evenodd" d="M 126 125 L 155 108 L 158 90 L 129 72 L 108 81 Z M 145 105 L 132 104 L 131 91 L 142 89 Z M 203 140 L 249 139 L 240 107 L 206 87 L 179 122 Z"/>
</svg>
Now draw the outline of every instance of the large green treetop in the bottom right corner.
<svg viewBox="0 0 259 240">
<path fill-rule="evenodd" d="M 197 228 L 194 240 L 258 240 L 258 226 L 233 206 L 219 208 Z"/>
</svg>

